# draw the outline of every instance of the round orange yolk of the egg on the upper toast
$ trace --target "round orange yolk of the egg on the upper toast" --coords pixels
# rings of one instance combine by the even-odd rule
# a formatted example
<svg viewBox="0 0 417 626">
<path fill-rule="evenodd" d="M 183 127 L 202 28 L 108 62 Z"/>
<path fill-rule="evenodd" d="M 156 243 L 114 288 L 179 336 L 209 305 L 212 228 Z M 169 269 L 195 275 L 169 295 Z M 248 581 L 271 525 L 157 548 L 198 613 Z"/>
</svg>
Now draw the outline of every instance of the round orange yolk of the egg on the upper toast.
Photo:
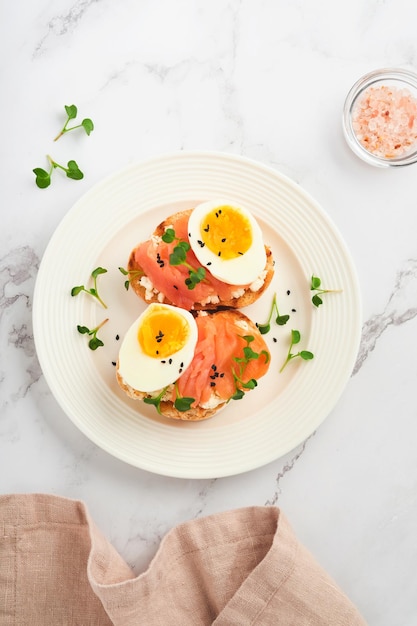
<svg viewBox="0 0 417 626">
<path fill-rule="evenodd" d="M 251 247 L 252 227 L 248 218 L 238 209 L 219 206 L 202 220 L 201 239 L 220 258 L 235 259 Z"/>
</svg>

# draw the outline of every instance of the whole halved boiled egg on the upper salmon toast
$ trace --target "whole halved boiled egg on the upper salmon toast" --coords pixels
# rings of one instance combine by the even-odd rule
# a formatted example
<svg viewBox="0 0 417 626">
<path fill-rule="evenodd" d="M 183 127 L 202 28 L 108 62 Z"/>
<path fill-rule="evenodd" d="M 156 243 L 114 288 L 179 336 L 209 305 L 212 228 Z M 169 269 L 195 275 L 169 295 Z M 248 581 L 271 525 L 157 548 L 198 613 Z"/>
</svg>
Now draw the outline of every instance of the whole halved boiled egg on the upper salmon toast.
<svg viewBox="0 0 417 626">
<path fill-rule="evenodd" d="M 242 206 L 219 201 L 199 204 L 188 220 L 188 237 L 201 265 L 225 283 L 250 284 L 265 268 L 261 228 Z"/>
</svg>

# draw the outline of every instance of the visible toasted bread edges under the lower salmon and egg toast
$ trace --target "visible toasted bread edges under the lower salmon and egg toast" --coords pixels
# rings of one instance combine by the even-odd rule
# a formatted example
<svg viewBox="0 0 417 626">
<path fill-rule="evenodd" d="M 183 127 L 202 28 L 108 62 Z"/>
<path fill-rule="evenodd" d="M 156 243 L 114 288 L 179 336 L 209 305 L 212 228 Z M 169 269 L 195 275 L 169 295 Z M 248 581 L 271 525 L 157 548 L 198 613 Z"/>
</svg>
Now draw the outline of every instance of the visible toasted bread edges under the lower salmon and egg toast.
<svg viewBox="0 0 417 626">
<path fill-rule="evenodd" d="M 233 322 L 236 325 L 237 334 L 252 335 L 256 337 L 257 340 L 261 342 L 258 345 L 260 345 L 261 348 L 265 348 L 267 350 L 266 344 L 264 343 L 264 340 L 261 337 L 261 334 L 256 324 L 251 319 L 249 319 L 246 315 L 244 315 L 241 311 L 229 309 L 225 311 L 216 311 L 216 312 L 210 312 L 210 313 L 200 312 L 197 314 L 197 316 L 216 316 L 216 315 L 221 316 L 222 324 L 224 324 L 226 320 L 228 322 L 230 321 Z M 227 350 L 227 344 L 224 346 L 224 349 Z M 192 367 L 192 366 L 193 364 L 191 364 L 189 367 Z M 116 377 L 117 377 L 117 382 L 120 385 L 120 387 L 133 400 L 144 400 L 145 398 L 152 398 L 155 395 L 158 395 L 157 392 L 151 394 L 151 393 L 139 391 L 131 387 L 129 384 L 127 384 L 126 381 L 123 380 L 122 376 L 119 373 L 118 362 L 116 366 Z M 210 382 L 208 384 L 210 384 Z M 172 391 L 172 387 L 170 390 L 168 390 L 166 395 L 169 396 L 171 391 Z M 218 413 L 222 408 L 226 406 L 229 400 L 230 398 L 220 398 L 218 396 L 216 397 L 216 393 L 212 392 L 211 402 L 210 402 L 211 406 L 198 405 L 196 407 L 191 407 L 189 410 L 180 411 L 174 406 L 174 403 L 171 400 L 167 400 L 166 398 L 163 398 L 159 404 L 159 412 L 165 417 L 170 418 L 170 419 L 197 422 L 197 421 L 212 417 L 213 415 Z"/>
</svg>

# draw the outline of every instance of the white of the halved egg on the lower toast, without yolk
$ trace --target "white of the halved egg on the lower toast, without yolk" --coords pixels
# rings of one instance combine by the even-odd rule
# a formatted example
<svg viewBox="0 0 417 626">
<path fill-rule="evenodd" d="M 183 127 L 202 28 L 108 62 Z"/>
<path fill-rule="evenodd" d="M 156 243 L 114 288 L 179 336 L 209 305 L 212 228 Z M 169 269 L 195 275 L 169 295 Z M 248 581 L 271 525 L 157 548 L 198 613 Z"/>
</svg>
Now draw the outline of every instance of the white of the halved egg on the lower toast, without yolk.
<svg viewBox="0 0 417 626">
<path fill-rule="evenodd" d="M 189 335 L 185 345 L 163 358 L 146 354 L 138 341 L 138 332 L 152 308 L 172 309 L 187 323 Z M 191 313 L 168 304 L 150 304 L 126 332 L 119 352 L 118 373 L 133 389 L 153 392 L 174 383 L 190 365 L 197 344 L 197 324 Z"/>
</svg>

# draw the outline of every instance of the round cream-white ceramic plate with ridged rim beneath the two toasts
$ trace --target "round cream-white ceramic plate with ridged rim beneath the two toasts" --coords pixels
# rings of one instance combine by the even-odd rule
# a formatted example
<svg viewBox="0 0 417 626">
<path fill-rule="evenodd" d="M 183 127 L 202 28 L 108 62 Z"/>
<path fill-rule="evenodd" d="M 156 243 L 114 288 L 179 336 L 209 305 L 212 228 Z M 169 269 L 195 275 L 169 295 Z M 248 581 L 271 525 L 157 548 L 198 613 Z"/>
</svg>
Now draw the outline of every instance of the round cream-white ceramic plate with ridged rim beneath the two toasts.
<svg viewBox="0 0 417 626">
<path fill-rule="evenodd" d="M 120 338 L 145 303 L 124 288 L 118 267 L 171 213 L 221 197 L 257 217 L 275 258 L 268 290 L 244 312 L 255 322 L 268 317 L 278 295 L 282 327 L 265 335 L 272 354 L 268 374 L 239 401 L 198 423 L 159 416 L 130 400 L 118 387 L 115 367 Z M 89 284 L 94 268 L 108 309 L 91 296 L 71 297 Z M 326 294 L 316 308 L 310 278 Z M 91 285 L 90 285 L 91 286 Z M 293 310 L 294 309 L 294 310 Z M 53 395 L 74 424 L 115 457 L 158 474 L 212 478 L 264 465 L 292 450 L 328 416 L 351 375 L 361 332 L 356 273 L 340 234 L 297 184 L 254 161 L 222 153 L 180 152 L 128 167 L 96 185 L 68 212 L 46 249 L 36 282 L 34 334 L 39 361 Z M 77 324 L 95 327 L 106 317 L 104 347 L 89 350 Z M 291 361 L 279 373 L 291 329 L 311 361 Z M 118 339 L 119 337 L 119 339 Z"/>
</svg>

